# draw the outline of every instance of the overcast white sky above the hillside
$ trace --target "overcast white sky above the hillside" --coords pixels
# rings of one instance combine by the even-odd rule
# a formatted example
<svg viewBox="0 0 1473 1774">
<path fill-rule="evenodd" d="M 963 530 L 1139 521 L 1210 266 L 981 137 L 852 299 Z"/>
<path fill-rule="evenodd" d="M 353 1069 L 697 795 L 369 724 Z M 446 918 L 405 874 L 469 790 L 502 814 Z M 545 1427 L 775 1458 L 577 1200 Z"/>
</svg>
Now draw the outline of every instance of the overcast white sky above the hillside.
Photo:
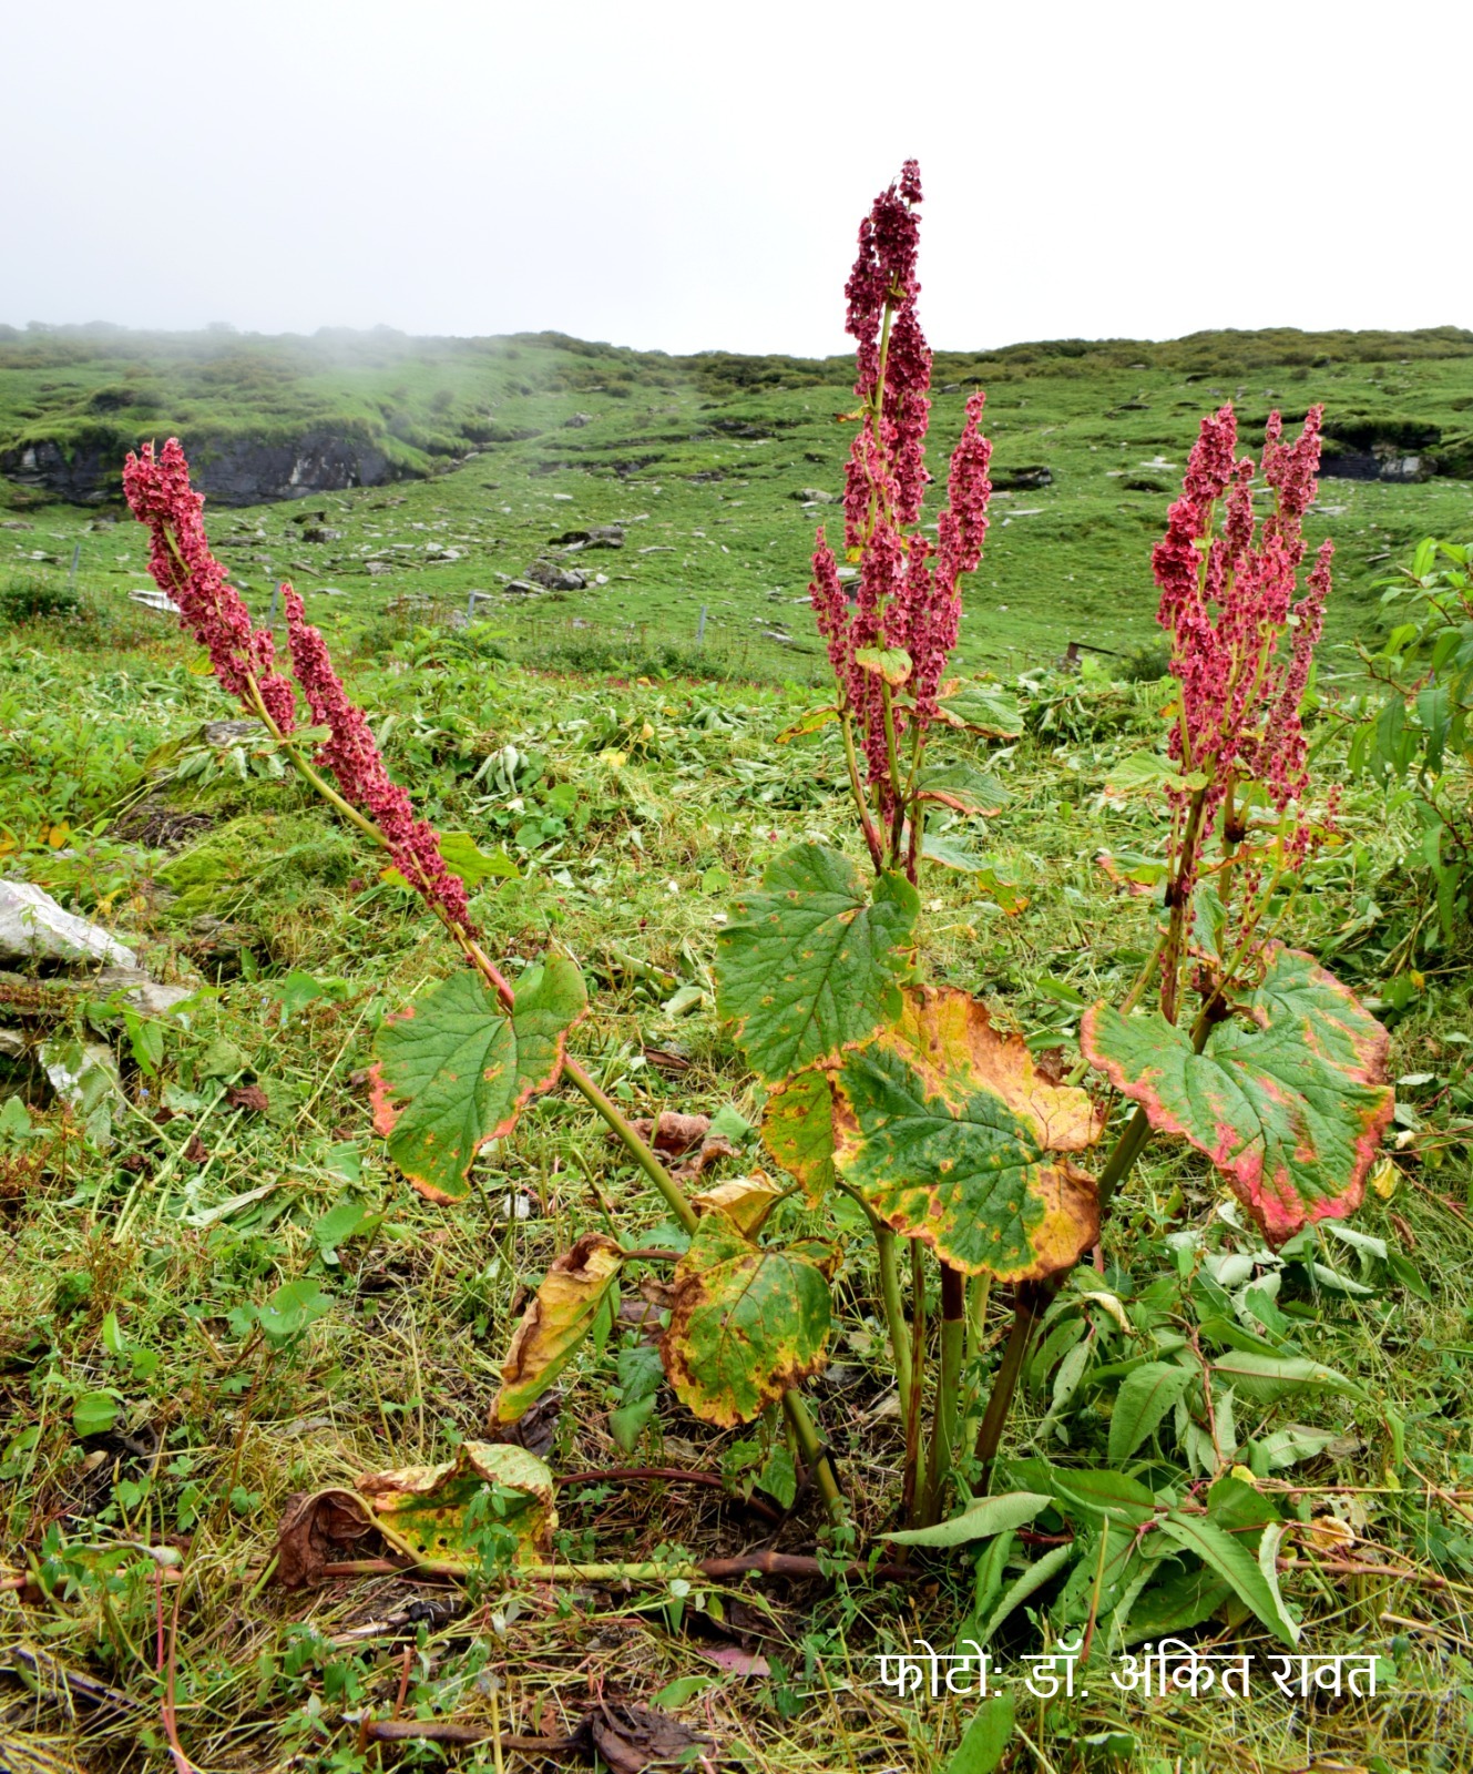
<svg viewBox="0 0 1473 1774">
<path fill-rule="evenodd" d="M 847 348 L 1473 325 L 1464 0 L 0 0 L 0 321 Z"/>
</svg>

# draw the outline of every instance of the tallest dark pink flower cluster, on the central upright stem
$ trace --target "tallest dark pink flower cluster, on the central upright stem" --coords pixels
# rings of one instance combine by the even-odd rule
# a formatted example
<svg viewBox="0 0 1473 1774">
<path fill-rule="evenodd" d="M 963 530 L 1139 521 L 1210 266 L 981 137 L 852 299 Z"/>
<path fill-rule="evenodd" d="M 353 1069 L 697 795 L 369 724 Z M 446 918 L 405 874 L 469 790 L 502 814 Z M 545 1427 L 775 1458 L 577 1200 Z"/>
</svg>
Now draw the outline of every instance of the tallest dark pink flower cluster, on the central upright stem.
<svg viewBox="0 0 1473 1774">
<path fill-rule="evenodd" d="M 966 424 L 952 454 L 948 504 L 936 546 L 909 532 L 922 509 L 925 431 L 931 415 L 931 349 L 916 319 L 920 169 L 906 161 L 899 186 L 874 200 L 860 225 L 860 255 L 849 275 L 847 328 L 858 341 L 854 392 L 863 403 L 844 486 L 844 539 L 861 561 L 854 601 L 838 577 L 824 530 L 814 550 L 808 587 L 819 633 L 828 644 L 840 701 L 853 713 L 886 818 L 893 814 L 883 679 L 856 662 L 872 648 L 902 648 L 911 658 L 906 706 L 893 708 L 899 738 L 911 718 L 936 718 L 947 658 L 961 626 L 961 578 L 982 559 L 987 534 L 991 444 L 982 436 L 982 392 L 966 403 Z"/>
</svg>

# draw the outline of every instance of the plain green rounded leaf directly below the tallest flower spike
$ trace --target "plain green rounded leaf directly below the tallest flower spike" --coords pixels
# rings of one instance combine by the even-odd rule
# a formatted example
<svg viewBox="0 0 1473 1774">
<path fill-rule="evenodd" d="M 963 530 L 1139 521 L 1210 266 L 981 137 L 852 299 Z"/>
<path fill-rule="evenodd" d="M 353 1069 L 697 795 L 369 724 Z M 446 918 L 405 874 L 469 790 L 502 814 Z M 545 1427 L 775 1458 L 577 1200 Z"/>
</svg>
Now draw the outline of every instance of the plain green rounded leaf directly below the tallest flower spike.
<svg viewBox="0 0 1473 1774">
<path fill-rule="evenodd" d="M 899 944 L 918 910 L 904 876 L 883 875 L 870 896 L 854 864 L 822 844 L 768 866 L 716 954 L 716 1006 L 760 1077 L 785 1079 L 895 1017 Z"/>
</svg>

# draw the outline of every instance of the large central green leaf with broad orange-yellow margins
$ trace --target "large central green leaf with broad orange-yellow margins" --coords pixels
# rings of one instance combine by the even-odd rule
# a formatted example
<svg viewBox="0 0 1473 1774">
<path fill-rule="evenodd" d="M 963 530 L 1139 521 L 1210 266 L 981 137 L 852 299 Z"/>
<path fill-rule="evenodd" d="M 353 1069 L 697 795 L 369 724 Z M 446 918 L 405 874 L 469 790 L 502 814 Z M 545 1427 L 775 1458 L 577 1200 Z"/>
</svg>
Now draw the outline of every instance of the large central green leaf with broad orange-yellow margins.
<svg viewBox="0 0 1473 1774">
<path fill-rule="evenodd" d="M 966 992 L 906 992 L 897 1022 L 835 1079 L 840 1174 L 954 1268 L 1039 1279 L 1099 1236 L 1092 1178 L 1056 1157 L 1094 1144 L 1099 1114 L 1083 1091 L 1049 1084 Z"/>
</svg>

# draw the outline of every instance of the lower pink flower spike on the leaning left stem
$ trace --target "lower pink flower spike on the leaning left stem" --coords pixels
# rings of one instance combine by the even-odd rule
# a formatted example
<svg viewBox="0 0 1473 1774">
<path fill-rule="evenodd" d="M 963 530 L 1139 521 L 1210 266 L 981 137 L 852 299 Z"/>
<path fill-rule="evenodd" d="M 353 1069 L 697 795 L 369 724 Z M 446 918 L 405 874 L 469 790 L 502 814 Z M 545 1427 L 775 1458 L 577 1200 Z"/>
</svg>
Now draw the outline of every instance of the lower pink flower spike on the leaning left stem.
<svg viewBox="0 0 1473 1774">
<path fill-rule="evenodd" d="M 317 752 L 317 761 L 331 770 L 347 800 L 367 812 L 383 832 L 394 866 L 404 880 L 452 924 L 473 935 L 466 889 L 445 867 L 434 827 L 427 820 L 415 818 L 415 804 L 390 779 L 369 729 L 369 718 L 344 690 L 321 630 L 307 623 L 301 598 L 291 585 L 284 585 L 282 594 L 292 674 L 307 695 L 314 724 L 331 731 L 331 738 Z"/>
</svg>

